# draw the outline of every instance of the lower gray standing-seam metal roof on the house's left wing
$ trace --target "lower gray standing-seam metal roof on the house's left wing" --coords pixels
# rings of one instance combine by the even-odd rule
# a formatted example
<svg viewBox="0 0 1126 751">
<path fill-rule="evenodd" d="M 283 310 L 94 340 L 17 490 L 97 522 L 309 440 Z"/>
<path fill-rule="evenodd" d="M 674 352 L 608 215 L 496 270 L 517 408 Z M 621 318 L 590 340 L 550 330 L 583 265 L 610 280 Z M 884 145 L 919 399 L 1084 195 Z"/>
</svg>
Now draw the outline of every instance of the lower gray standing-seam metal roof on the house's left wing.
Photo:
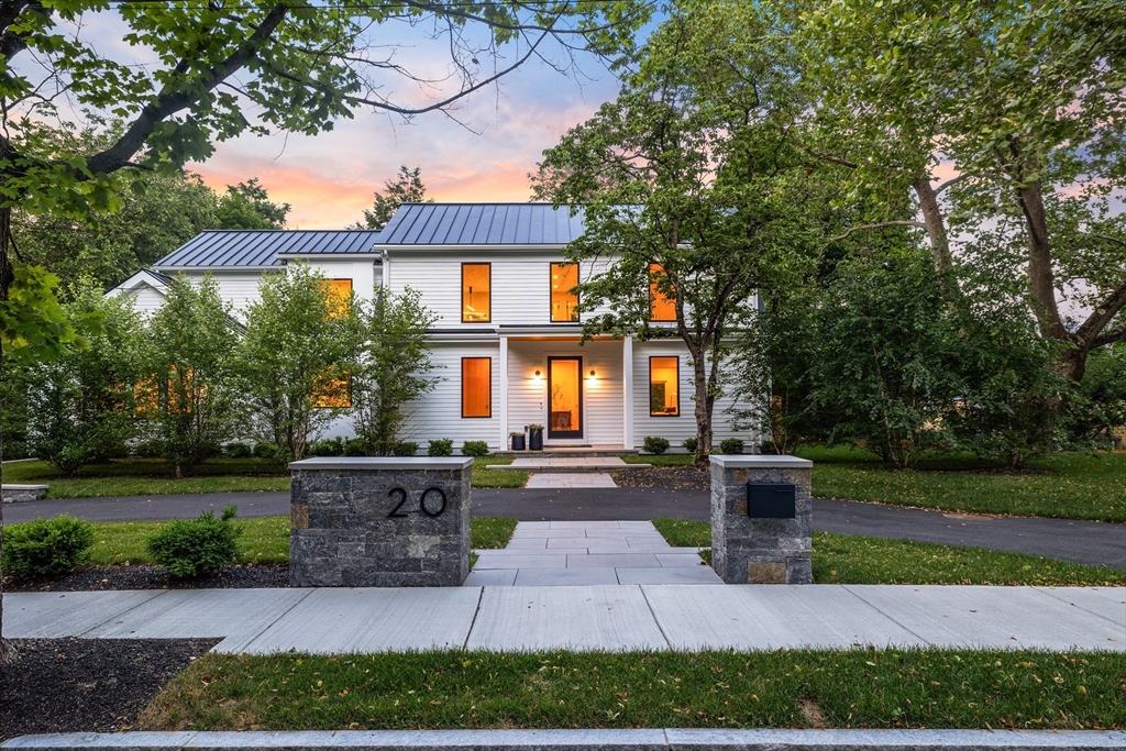
<svg viewBox="0 0 1126 751">
<path fill-rule="evenodd" d="M 278 254 L 368 253 L 375 230 L 208 230 L 153 263 L 157 269 L 282 266 Z"/>
</svg>

